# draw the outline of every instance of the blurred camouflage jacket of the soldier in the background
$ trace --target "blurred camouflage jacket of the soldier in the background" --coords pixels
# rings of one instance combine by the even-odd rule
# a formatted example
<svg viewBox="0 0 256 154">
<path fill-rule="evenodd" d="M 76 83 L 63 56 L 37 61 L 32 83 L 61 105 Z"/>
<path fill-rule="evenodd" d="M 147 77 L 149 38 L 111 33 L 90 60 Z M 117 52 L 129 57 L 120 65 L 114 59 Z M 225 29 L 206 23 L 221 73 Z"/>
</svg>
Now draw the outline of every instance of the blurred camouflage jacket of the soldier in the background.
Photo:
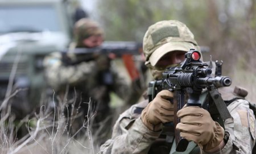
<svg viewBox="0 0 256 154">
<path fill-rule="evenodd" d="M 69 54 L 68 56 L 71 60 L 76 61 L 74 60 L 77 58 L 75 55 Z M 115 71 L 116 69 L 112 64 L 104 70 L 100 68 L 102 65 L 95 60 L 67 65 L 64 63 L 60 52 L 51 53 L 44 59 L 43 63 L 47 84 L 57 92 L 63 91 L 65 93 L 65 89 L 69 85 L 69 89 L 74 90 L 76 88 L 77 93 L 82 92 L 88 97 L 101 98 L 107 102 L 110 99 L 110 92 L 114 92 L 120 98 L 127 99 L 127 91 L 130 87 L 125 78 Z"/>
</svg>

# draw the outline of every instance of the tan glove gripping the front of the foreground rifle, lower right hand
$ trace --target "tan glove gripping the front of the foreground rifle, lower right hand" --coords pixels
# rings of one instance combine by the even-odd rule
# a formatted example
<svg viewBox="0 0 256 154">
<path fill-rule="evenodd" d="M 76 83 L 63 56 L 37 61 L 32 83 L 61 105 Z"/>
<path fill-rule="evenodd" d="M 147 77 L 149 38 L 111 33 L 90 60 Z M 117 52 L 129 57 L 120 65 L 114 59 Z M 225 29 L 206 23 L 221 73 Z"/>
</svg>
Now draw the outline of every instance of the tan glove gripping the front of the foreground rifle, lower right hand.
<svg viewBox="0 0 256 154">
<path fill-rule="evenodd" d="M 177 116 L 180 123 L 176 129 L 180 130 L 180 136 L 195 141 L 204 151 L 216 148 L 224 138 L 224 129 L 201 107 L 184 107 Z"/>
</svg>

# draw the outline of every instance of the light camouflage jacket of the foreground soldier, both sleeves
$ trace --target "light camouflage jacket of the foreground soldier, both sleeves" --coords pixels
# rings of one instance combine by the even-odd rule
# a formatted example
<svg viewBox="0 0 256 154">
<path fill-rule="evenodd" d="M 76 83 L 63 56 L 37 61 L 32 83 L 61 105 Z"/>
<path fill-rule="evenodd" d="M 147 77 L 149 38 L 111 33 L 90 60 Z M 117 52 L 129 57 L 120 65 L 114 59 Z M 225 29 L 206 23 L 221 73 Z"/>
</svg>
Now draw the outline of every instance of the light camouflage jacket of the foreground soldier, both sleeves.
<svg viewBox="0 0 256 154">
<path fill-rule="evenodd" d="M 245 99 L 233 99 L 226 88 L 220 90 L 224 101 L 231 101 L 228 110 L 232 118 L 224 121 L 226 145 L 217 153 L 251 153 L 255 144 L 255 116 Z M 232 93 L 232 92 L 231 92 Z M 232 101 L 234 100 L 234 101 Z M 148 130 L 142 123 L 140 113 L 148 101 L 130 107 L 122 113 L 113 128 L 112 139 L 101 145 L 100 153 L 148 153 L 161 132 Z M 161 153 L 160 151 L 156 153 Z M 200 153 L 205 153 L 200 150 Z"/>
</svg>

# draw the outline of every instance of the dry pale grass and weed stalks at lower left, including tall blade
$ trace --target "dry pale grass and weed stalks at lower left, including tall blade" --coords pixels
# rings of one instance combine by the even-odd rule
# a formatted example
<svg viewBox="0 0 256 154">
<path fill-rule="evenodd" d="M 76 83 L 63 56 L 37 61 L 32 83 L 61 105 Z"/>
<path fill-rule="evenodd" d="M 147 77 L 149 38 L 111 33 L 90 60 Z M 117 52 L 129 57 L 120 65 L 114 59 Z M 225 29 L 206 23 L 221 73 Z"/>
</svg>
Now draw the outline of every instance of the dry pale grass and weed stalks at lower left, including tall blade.
<svg viewBox="0 0 256 154">
<path fill-rule="evenodd" d="M 73 100 L 72 104 L 70 104 L 70 101 L 67 100 L 69 89 L 68 86 L 64 96 L 64 101 L 58 99 L 58 101 L 62 103 L 57 105 L 53 99 L 55 97 L 53 91 L 53 110 L 51 110 L 51 107 L 48 106 L 49 104 L 42 105 L 40 107 L 39 114 L 35 114 L 33 117 L 27 115 L 24 119 L 19 120 L 19 124 L 15 126 L 15 117 L 11 113 L 9 100 L 19 93 L 19 91 L 27 90 L 15 89 L 15 91 L 13 91 L 14 78 L 18 68 L 19 59 L 22 54 L 21 51 L 22 50 L 20 48 L 16 55 L 16 59 L 9 77 L 9 84 L 7 86 L 5 99 L 2 101 L 0 106 L 0 153 L 34 153 L 34 148 L 38 154 L 68 153 L 69 149 L 72 148 L 71 143 L 73 143 L 73 146 L 79 145 L 79 147 L 83 149 L 81 151 L 84 152 L 84 149 L 86 149 L 86 151 L 88 151 L 86 153 L 94 154 L 95 149 L 98 148 L 94 147 L 94 141 L 97 140 L 97 138 L 102 138 L 102 136 L 106 135 L 102 133 L 104 132 L 102 130 L 105 130 L 104 126 L 106 126 L 109 117 L 100 122 L 100 128 L 97 130 L 94 128 L 92 132 L 92 123 L 96 113 L 93 113 L 93 110 L 91 109 L 91 101 L 79 102 L 79 106 L 76 108 L 76 89 L 74 89 L 75 99 Z M 89 107 L 86 115 L 81 115 L 79 112 L 82 103 L 86 103 Z M 68 109 L 69 105 L 72 106 L 71 110 Z M 65 116 L 64 111 L 68 112 L 68 116 Z M 69 113 L 69 111 L 71 113 Z M 69 116 L 69 114 L 71 114 L 71 116 Z M 82 116 L 85 118 L 84 123 L 79 130 L 71 134 L 70 130 L 72 129 L 73 123 L 76 122 L 75 119 L 81 118 Z M 18 130 L 23 123 L 27 123 L 28 134 L 24 135 L 23 138 L 18 139 Z M 79 138 L 78 135 L 80 132 L 84 132 L 84 134 Z"/>
</svg>

